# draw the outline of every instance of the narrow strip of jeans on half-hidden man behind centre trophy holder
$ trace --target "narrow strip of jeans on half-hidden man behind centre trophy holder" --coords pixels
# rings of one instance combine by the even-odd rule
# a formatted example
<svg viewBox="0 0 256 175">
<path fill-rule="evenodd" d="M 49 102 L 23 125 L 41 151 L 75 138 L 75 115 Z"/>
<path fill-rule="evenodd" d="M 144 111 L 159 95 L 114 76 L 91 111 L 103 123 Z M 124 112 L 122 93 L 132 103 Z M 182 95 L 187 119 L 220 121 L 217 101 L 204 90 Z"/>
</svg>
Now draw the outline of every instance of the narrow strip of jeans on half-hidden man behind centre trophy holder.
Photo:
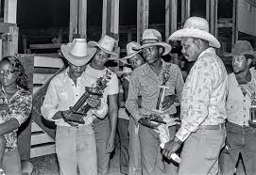
<svg viewBox="0 0 256 175">
<path fill-rule="evenodd" d="M 135 120 L 130 118 L 128 125 L 129 133 L 129 175 L 141 175 L 142 174 L 142 158 L 141 147 L 139 139 L 139 126 L 135 125 Z"/>
</svg>

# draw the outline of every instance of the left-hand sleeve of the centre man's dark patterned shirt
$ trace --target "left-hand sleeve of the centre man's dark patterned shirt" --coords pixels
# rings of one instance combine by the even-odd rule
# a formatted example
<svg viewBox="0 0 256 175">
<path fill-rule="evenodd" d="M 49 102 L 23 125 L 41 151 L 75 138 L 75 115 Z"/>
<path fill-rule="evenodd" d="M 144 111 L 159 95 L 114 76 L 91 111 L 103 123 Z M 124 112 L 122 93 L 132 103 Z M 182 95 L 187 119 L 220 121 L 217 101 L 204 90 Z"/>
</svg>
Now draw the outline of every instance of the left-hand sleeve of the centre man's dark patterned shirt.
<svg viewBox="0 0 256 175">
<path fill-rule="evenodd" d="M 137 79 L 137 74 L 132 72 L 130 81 L 129 81 L 129 87 L 128 87 L 128 99 L 125 105 L 128 109 L 128 112 L 130 113 L 132 118 L 135 119 L 136 122 L 138 122 L 138 120 L 142 118 L 142 115 L 139 112 L 139 106 L 137 103 L 138 96 L 139 96 L 139 82 Z"/>
</svg>

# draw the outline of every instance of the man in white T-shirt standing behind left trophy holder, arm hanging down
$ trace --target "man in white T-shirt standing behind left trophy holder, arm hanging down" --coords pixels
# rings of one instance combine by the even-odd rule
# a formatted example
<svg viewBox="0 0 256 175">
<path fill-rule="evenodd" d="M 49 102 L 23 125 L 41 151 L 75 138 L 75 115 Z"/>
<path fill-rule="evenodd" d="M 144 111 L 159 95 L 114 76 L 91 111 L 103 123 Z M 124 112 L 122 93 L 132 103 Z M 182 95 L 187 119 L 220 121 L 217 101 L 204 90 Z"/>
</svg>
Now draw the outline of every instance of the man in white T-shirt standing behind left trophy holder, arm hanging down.
<svg viewBox="0 0 256 175">
<path fill-rule="evenodd" d="M 110 36 L 103 36 L 101 40 L 89 41 L 88 45 L 96 48 L 96 54 L 92 58 L 92 62 L 86 67 L 85 74 L 94 81 L 106 72 L 111 72 L 105 67 L 105 63 L 114 55 L 113 47 L 115 40 Z M 114 149 L 114 138 L 116 132 L 116 122 L 118 114 L 118 98 L 119 86 L 118 79 L 114 72 L 111 72 L 111 80 L 103 94 L 103 103 L 107 104 L 109 117 L 104 119 L 94 119 L 94 135 L 97 148 L 97 171 L 99 175 L 105 175 L 109 171 L 110 155 Z M 110 123 L 111 121 L 111 123 Z"/>
</svg>

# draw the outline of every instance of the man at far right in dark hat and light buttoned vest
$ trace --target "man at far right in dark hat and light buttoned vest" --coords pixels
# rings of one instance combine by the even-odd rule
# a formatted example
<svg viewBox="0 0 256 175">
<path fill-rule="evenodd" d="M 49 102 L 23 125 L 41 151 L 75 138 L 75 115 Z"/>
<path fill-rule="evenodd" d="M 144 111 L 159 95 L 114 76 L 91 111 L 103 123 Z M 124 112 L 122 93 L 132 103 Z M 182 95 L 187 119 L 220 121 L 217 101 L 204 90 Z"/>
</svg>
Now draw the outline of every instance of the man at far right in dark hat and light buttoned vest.
<svg viewBox="0 0 256 175">
<path fill-rule="evenodd" d="M 232 52 L 227 55 L 232 56 L 233 72 L 228 76 L 228 122 L 226 123 L 228 151 L 222 151 L 220 156 L 223 175 L 234 173 L 240 152 L 247 175 L 256 174 L 256 128 L 254 128 L 255 123 L 251 126 L 249 118 L 250 106 L 256 103 L 256 71 L 255 67 L 251 67 L 255 54 L 247 40 L 237 40 Z"/>
</svg>

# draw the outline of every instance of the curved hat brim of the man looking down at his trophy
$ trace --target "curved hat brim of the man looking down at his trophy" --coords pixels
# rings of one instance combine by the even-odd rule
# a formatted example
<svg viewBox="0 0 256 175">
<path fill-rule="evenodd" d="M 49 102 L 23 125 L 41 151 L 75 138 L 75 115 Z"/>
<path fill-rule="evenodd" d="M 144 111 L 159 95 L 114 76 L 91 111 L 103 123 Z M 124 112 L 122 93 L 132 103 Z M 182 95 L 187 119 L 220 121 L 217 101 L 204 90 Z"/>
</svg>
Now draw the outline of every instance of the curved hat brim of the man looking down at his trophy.
<svg viewBox="0 0 256 175">
<path fill-rule="evenodd" d="M 86 63 L 88 63 L 97 51 L 96 48 L 88 47 L 88 56 L 72 56 L 70 54 L 72 45 L 73 45 L 73 43 L 61 45 L 60 50 L 61 50 L 62 55 L 68 60 L 68 62 L 70 62 L 71 64 L 73 64 L 75 66 L 83 66 Z"/>
</svg>

